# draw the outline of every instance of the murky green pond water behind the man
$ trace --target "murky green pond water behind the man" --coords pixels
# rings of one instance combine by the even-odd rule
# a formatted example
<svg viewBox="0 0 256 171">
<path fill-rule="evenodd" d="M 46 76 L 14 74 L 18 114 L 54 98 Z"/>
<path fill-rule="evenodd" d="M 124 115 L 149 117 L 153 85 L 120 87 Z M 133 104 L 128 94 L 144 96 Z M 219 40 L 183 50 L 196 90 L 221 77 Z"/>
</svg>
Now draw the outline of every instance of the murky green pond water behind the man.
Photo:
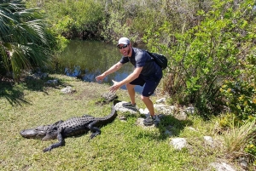
<svg viewBox="0 0 256 171">
<path fill-rule="evenodd" d="M 79 77 L 86 82 L 96 82 L 96 76 L 107 71 L 121 59 L 119 49 L 113 44 L 96 41 L 72 40 L 59 57 L 63 72 L 70 77 Z M 112 80 L 121 81 L 133 71 L 131 63 L 126 63 L 119 71 L 105 77 L 102 83 L 113 85 Z M 126 89 L 125 86 L 121 87 Z M 136 86 L 135 91 L 141 93 L 142 87 Z"/>
</svg>

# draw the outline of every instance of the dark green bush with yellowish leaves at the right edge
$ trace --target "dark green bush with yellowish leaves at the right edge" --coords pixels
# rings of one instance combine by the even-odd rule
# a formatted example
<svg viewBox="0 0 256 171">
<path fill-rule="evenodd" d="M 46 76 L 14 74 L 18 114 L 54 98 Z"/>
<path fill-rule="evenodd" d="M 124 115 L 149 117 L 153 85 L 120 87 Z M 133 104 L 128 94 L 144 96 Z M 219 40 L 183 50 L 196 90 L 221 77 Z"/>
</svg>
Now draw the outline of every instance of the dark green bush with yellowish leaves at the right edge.
<svg viewBox="0 0 256 171">
<path fill-rule="evenodd" d="M 256 117 L 256 56 L 247 61 L 239 61 L 241 75 L 236 80 L 224 83 L 220 92 L 224 95 L 226 105 L 241 120 Z"/>
</svg>

